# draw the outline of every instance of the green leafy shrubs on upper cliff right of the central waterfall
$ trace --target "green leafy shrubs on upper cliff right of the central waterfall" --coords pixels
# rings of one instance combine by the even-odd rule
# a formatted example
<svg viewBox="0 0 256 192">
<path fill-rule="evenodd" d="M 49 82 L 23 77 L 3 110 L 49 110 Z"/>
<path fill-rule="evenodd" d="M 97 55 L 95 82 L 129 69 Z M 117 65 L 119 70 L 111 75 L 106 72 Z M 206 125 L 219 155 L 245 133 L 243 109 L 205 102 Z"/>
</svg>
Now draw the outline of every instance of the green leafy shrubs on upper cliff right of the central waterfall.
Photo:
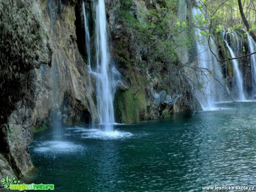
<svg viewBox="0 0 256 192">
<path fill-rule="evenodd" d="M 145 54 L 158 65 L 176 62 L 177 47 L 183 45 L 175 41 L 175 36 L 188 28 L 188 24 L 185 21 L 179 21 L 177 17 L 178 1 L 152 1 L 153 6 L 147 7 L 148 11 L 143 9 L 145 6 L 143 2 L 138 2 L 141 4 L 138 6 L 132 1 L 123 1 L 119 11 L 126 28 L 133 34 L 132 37 L 136 38 L 133 42 L 137 44 L 136 47 L 141 47 L 140 50 L 143 50 L 141 54 Z M 133 6 L 132 9 L 130 9 L 131 6 Z M 134 7 L 139 10 L 134 11 Z M 184 43 L 185 46 L 187 44 L 188 42 Z"/>
</svg>

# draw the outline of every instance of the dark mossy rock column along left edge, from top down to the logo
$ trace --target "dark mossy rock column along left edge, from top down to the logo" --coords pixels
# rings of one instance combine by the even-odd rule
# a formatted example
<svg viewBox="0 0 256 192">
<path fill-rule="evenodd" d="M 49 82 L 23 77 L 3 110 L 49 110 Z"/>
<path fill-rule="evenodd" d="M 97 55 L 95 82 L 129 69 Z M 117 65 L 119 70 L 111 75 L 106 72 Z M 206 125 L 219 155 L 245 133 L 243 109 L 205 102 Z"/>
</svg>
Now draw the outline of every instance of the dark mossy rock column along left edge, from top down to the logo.
<svg viewBox="0 0 256 192">
<path fill-rule="evenodd" d="M 6 158 L 0 170 L 7 174 L 6 168 L 12 167 L 22 175 L 32 168 L 28 150 L 35 107 L 32 69 L 50 63 L 51 48 L 37 1 L 2 1 L 0 9 L 0 28 L 4 29 L 0 38 L 4 50 L 0 53 L 0 154 Z"/>
</svg>

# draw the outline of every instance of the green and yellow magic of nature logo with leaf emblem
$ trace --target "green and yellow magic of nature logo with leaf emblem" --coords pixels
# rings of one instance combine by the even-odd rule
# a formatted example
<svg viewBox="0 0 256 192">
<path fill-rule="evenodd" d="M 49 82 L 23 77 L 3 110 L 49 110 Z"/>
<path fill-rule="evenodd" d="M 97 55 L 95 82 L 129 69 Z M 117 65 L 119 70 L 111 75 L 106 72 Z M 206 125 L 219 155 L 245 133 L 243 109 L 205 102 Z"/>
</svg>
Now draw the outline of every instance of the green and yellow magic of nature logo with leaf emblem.
<svg viewBox="0 0 256 192">
<path fill-rule="evenodd" d="M 6 178 L 1 179 L 1 185 L 4 189 L 9 190 L 54 190 L 53 184 L 19 184 L 21 181 L 17 180 L 15 177 L 9 178 L 6 176 Z"/>
</svg>

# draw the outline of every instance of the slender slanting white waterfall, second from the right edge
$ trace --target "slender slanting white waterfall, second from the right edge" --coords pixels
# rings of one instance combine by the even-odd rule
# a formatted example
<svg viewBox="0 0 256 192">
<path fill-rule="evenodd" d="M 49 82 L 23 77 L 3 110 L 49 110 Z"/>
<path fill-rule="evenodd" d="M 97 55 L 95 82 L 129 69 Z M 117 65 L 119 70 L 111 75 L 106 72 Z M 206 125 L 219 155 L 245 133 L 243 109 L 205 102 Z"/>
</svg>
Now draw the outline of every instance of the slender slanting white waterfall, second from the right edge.
<svg viewBox="0 0 256 192">
<path fill-rule="evenodd" d="M 230 43 L 233 45 L 233 49 L 232 49 L 232 47 L 230 47 L 228 44 L 228 40 L 227 40 L 228 33 L 229 32 L 227 32 L 227 33 L 223 32 L 223 40 L 225 41 L 225 43 L 228 47 L 230 56 L 232 58 L 235 58 L 237 56 L 235 55 L 233 50 L 235 50 L 235 51 L 242 50 L 242 46 L 240 45 L 240 41 L 238 40 L 237 33 L 232 32 L 232 33 L 230 33 L 230 38 L 231 38 Z M 235 86 L 232 86 L 232 92 L 234 93 L 235 97 L 237 97 L 237 99 L 239 101 L 245 101 L 246 97 L 245 97 L 245 91 L 244 91 L 244 85 L 243 85 L 243 74 L 240 71 L 239 62 L 238 62 L 238 60 L 232 60 L 232 63 L 233 63 L 234 71 L 235 71 L 235 77 L 234 77 Z"/>
</svg>

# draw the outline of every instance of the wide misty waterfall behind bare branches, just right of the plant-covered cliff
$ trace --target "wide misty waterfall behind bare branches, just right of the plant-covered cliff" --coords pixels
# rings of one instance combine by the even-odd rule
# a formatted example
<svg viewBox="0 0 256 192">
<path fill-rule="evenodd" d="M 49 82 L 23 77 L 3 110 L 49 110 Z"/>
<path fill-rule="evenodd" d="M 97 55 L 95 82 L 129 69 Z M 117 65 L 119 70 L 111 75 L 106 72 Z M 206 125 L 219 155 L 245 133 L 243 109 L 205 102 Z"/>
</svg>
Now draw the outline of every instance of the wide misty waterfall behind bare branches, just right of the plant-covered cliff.
<svg viewBox="0 0 256 192">
<path fill-rule="evenodd" d="M 199 15 L 200 10 L 193 8 L 193 16 Z M 197 51 L 197 66 L 202 72 L 196 75 L 196 81 L 200 85 L 196 95 L 201 103 L 203 110 L 213 110 L 214 103 L 223 101 L 224 88 L 220 83 L 223 83 L 223 75 L 219 62 L 211 53 L 208 45 L 208 38 L 200 33 L 200 28 L 195 29 L 196 51 Z M 217 55 L 217 48 L 213 40 L 210 40 L 211 50 Z"/>
</svg>

